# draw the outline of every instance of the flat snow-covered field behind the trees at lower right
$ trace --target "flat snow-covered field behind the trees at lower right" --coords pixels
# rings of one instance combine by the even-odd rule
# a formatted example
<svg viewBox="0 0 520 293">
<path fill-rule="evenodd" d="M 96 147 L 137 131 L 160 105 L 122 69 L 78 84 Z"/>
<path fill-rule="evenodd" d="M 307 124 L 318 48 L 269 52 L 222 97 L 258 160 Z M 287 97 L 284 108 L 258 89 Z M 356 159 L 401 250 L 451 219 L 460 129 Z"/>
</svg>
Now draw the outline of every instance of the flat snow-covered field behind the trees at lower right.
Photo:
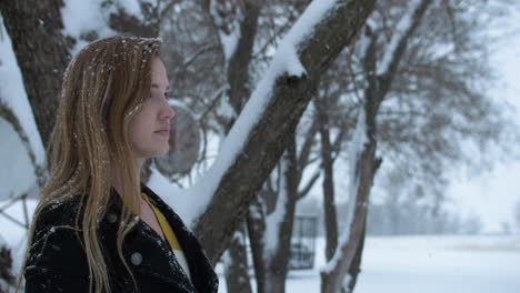
<svg viewBox="0 0 520 293">
<path fill-rule="evenodd" d="M 320 292 L 319 270 L 290 272 L 287 292 Z M 369 238 L 354 292 L 520 293 L 520 235 Z"/>
</svg>

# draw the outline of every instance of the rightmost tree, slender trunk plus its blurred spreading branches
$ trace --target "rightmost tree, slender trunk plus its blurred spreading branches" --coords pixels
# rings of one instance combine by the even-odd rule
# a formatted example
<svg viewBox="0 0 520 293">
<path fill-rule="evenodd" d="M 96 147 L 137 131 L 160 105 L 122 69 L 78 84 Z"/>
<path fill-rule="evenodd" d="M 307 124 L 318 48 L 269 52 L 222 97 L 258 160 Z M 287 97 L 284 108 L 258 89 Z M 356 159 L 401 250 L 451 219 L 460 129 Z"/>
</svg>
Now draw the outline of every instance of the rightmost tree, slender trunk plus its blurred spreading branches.
<svg viewBox="0 0 520 293">
<path fill-rule="evenodd" d="M 447 181 L 443 171 L 469 159 L 460 151 L 461 142 L 476 141 L 484 149 L 503 139 L 499 125 L 510 123 L 494 112 L 500 104 L 491 102 L 482 94 L 480 84 L 474 83 L 477 80 L 486 83 L 487 74 L 479 60 L 482 55 L 474 49 L 479 47 L 473 43 L 480 40 L 476 37 L 480 27 L 474 18 L 464 16 L 467 4 L 378 2 L 351 52 L 347 63 L 353 72 L 356 91 L 352 94 L 344 90 L 344 95 L 358 103 L 359 109 L 348 158 L 352 210 L 339 244 L 337 238 L 328 238 L 331 244 L 326 254 L 329 257 L 330 251 L 334 254 L 322 271 L 322 292 L 351 292 L 354 286 L 366 210 L 382 154 L 391 168 L 408 170 L 412 184 L 430 188 L 440 201 Z M 453 26 L 443 26 L 446 21 L 439 21 L 443 18 L 453 21 Z M 449 107 L 443 107 L 444 103 Z M 494 124 L 497 118 L 501 120 L 499 124 Z M 334 210 L 332 200 L 324 202 L 331 205 L 326 211 Z M 337 234 L 333 215 L 329 213 L 330 220 L 326 220 L 330 235 Z"/>
</svg>

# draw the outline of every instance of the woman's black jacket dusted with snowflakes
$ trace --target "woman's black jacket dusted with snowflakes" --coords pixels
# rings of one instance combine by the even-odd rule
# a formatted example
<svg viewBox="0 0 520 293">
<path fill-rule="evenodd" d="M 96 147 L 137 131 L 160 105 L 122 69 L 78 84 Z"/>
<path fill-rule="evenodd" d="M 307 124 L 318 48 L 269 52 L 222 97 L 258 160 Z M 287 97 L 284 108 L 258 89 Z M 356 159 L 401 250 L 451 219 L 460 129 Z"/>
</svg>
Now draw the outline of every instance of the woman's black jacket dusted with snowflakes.
<svg viewBox="0 0 520 293">
<path fill-rule="evenodd" d="M 173 229 L 188 260 L 191 282 L 168 243 L 139 220 L 122 245 L 138 292 L 217 292 L 218 277 L 193 233 L 153 191 L 144 185 L 142 191 Z M 40 213 L 26 265 L 26 292 L 88 292 L 89 269 L 82 241 L 74 231 L 64 228 L 74 224 L 79 198 L 50 204 Z M 106 216 L 99 223 L 98 238 L 112 292 L 136 292 L 116 245 L 121 205 L 120 196 L 112 189 Z"/>
</svg>

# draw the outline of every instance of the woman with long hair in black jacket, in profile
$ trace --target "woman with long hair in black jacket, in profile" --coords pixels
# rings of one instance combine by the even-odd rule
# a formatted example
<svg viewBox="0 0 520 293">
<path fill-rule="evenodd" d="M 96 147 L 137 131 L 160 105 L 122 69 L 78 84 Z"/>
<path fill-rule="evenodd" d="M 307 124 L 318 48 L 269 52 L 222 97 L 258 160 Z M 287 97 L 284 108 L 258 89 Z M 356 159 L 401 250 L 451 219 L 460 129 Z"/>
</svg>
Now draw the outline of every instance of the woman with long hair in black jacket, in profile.
<svg viewBox="0 0 520 293">
<path fill-rule="evenodd" d="M 159 48 L 157 39 L 114 37 L 69 64 L 26 292 L 217 292 L 194 235 L 140 183 L 144 161 L 168 151 L 174 115 Z"/>
</svg>

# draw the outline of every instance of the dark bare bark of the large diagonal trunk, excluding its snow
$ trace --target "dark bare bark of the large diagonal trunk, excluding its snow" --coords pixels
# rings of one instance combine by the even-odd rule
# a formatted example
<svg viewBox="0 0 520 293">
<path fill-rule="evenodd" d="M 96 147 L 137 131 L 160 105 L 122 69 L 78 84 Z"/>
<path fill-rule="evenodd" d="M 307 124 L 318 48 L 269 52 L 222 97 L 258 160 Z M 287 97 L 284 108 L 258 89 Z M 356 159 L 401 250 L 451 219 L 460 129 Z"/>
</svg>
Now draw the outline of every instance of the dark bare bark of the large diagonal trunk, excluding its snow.
<svg viewBox="0 0 520 293">
<path fill-rule="evenodd" d="M 236 223 L 240 223 L 281 156 L 290 133 L 294 132 L 316 91 L 320 75 L 352 41 L 372 11 L 373 3 L 373 0 L 338 1 L 337 9 L 317 24 L 309 39 L 299 46 L 298 54 L 308 74 L 301 78 L 284 75 L 277 80 L 266 111 L 250 132 L 242 152 L 221 178 L 207 211 L 194 225 L 194 232 L 213 263 L 228 246 Z M 222 210 L 233 213 L 222 213 Z"/>
</svg>

